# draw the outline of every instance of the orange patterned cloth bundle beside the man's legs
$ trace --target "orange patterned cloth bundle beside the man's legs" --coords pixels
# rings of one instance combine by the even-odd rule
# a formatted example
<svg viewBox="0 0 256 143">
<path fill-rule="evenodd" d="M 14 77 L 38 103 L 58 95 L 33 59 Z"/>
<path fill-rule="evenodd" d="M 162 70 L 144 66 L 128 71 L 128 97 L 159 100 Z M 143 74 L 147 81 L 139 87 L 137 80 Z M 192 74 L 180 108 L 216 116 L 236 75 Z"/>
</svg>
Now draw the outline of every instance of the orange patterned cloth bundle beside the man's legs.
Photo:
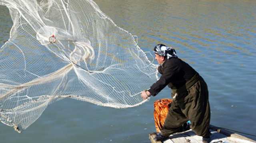
<svg viewBox="0 0 256 143">
<path fill-rule="evenodd" d="M 172 103 L 172 99 L 164 98 L 160 100 L 156 100 L 154 102 L 154 120 L 156 131 L 160 132 L 160 129 L 164 125 L 164 120 L 169 111 L 169 104 Z"/>
</svg>

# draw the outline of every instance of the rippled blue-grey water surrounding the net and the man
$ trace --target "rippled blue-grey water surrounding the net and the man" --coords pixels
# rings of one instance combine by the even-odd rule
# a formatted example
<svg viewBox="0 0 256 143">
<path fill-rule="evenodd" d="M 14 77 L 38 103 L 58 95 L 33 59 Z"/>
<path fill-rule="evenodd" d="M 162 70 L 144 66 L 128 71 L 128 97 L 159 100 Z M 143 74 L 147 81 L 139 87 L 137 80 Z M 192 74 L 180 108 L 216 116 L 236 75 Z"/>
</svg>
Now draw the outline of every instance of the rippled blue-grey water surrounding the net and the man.
<svg viewBox="0 0 256 143">
<path fill-rule="evenodd" d="M 144 51 L 158 43 L 172 46 L 204 77 L 211 124 L 256 134 L 255 0 L 95 2 L 118 26 L 137 35 Z M 0 6 L 0 46 L 8 40 L 11 26 L 8 9 Z M 155 131 L 153 102 L 160 98 L 170 98 L 170 89 L 128 109 L 61 100 L 22 134 L 0 124 L 0 142 L 148 143 L 148 133 Z"/>
</svg>

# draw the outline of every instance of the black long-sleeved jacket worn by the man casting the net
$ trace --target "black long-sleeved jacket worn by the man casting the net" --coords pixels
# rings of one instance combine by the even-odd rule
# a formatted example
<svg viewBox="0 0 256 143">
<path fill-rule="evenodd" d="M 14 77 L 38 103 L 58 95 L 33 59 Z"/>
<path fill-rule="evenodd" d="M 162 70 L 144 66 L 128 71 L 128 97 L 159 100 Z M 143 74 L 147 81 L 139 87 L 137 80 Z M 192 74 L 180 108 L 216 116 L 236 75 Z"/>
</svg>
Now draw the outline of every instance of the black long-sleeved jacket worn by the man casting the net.
<svg viewBox="0 0 256 143">
<path fill-rule="evenodd" d="M 162 76 L 148 90 L 153 96 L 156 96 L 166 85 L 172 89 L 179 89 L 197 73 L 190 65 L 179 58 L 164 61 L 158 67 L 158 72 Z"/>
</svg>

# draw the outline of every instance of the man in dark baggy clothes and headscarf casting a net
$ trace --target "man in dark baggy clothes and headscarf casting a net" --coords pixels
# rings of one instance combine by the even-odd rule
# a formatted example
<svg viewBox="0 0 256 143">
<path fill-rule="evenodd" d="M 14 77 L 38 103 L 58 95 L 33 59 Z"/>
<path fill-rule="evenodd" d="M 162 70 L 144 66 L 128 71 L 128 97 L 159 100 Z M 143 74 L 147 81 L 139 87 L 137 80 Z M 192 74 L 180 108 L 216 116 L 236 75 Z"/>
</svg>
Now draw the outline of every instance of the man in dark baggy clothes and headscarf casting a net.
<svg viewBox="0 0 256 143">
<path fill-rule="evenodd" d="M 190 65 L 179 59 L 172 47 L 158 44 L 154 47 L 155 59 L 162 74 L 141 97 L 146 100 L 156 96 L 166 85 L 172 89 L 173 102 L 164 126 L 155 137 L 156 141 L 167 139 L 169 135 L 184 131 L 184 123 L 190 120 L 190 128 L 203 137 L 203 143 L 210 142 L 210 104 L 208 88 L 204 79 Z"/>
</svg>

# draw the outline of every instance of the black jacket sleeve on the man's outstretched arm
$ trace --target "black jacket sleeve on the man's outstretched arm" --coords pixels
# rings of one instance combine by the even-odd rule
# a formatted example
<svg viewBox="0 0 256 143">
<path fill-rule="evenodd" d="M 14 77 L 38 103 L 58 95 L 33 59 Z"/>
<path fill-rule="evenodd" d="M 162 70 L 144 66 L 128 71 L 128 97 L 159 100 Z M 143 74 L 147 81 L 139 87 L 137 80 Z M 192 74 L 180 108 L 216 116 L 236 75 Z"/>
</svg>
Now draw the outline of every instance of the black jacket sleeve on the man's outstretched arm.
<svg viewBox="0 0 256 143">
<path fill-rule="evenodd" d="M 154 83 L 148 90 L 152 96 L 156 96 L 158 92 L 160 92 L 167 84 L 169 84 L 172 81 L 174 75 L 179 71 L 179 66 L 177 66 L 175 63 L 166 64 L 167 65 L 162 67 L 163 74 L 160 79 L 157 80 L 156 83 Z"/>
</svg>

